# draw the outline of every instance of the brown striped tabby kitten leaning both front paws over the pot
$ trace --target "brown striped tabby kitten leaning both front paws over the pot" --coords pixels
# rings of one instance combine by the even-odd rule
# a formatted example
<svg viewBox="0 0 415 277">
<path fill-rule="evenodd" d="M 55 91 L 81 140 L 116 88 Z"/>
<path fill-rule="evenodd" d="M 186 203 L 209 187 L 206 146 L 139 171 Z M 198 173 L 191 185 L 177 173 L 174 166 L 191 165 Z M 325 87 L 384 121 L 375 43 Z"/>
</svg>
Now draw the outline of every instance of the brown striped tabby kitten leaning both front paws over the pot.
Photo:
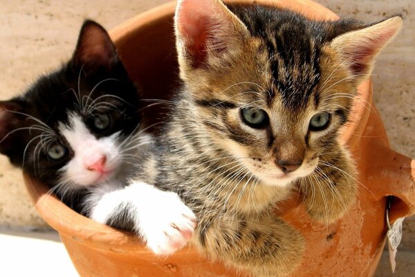
<svg viewBox="0 0 415 277">
<path fill-rule="evenodd" d="M 273 210 L 298 189 L 311 217 L 326 223 L 354 201 L 356 168 L 339 129 L 401 24 L 178 1 L 184 85 L 136 180 L 180 195 L 198 219 L 193 242 L 211 258 L 254 276 L 288 274 L 304 240 Z"/>
</svg>

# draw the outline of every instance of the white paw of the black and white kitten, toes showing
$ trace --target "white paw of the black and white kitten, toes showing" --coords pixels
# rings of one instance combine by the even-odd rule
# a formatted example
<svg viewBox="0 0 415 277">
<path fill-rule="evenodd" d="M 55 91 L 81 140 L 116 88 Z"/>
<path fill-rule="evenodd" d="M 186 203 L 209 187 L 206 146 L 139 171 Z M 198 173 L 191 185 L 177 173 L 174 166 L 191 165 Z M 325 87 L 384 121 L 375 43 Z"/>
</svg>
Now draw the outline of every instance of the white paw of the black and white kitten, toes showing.
<svg viewBox="0 0 415 277">
<path fill-rule="evenodd" d="M 146 213 L 140 216 L 140 233 L 157 255 L 169 255 L 192 238 L 196 217 L 176 195 L 158 190 Z"/>
</svg>

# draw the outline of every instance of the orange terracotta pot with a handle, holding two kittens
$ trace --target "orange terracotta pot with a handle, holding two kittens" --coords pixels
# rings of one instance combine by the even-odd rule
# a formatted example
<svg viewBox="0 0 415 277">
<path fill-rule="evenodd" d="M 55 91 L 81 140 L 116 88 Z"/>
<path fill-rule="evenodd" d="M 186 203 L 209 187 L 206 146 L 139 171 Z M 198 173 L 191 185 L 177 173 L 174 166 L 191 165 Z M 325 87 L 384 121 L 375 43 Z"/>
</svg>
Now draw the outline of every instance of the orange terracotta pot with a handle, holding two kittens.
<svg viewBox="0 0 415 277">
<path fill-rule="evenodd" d="M 333 12 L 308 0 L 255 2 L 285 6 L 315 18 L 336 18 Z M 167 3 L 111 32 L 131 78 L 151 92 L 146 98 L 167 97 L 177 80 L 174 8 L 175 3 Z M 295 277 L 373 276 L 385 243 L 387 196 L 395 196 L 391 221 L 415 213 L 415 161 L 389 149 L 372 101 L 370 80 L 360 85 L 353 109 L 353 122 L 344 129 L 342 139 L 353 151 L 360 170 L 358 200 L 347 215 L 329 226 L 311 222 L 303 206 L 286 202 L 282 217 L 306 240 Z M 59 232 L 82 276 L 236 276 L 232 270 L 198 256 L 191 247 L 168 258 L 156 257 L 131 233 L 82 217 L 46 194 L 46 186 L 27 176 L 25 180 L 37 210 Z"/>
</svg>

